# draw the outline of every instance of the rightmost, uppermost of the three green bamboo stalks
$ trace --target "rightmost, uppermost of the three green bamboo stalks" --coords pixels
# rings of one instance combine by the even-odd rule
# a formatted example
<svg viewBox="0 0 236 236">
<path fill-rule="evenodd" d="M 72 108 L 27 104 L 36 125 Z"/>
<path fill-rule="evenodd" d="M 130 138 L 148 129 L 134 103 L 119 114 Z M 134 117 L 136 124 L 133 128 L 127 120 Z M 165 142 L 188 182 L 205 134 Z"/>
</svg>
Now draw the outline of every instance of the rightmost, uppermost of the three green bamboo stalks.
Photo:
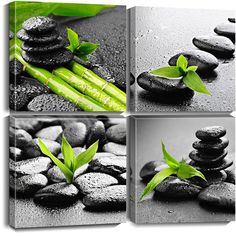
<svg viewBox="0 0 236 236">
<path fill-rule="evenodd" d="M 117 88 L 114 84 L 107 82 L 98 75 L 96 75 L 91 70 L 83 67 L 75 61 L 70 63 L 70 69 L 80 77 L 86 79 L 93 85 L 96 85 L 105 93 L 109 94 L 111 97 L 119 100 L 122 104 L 126 105 L 126 94 Z"/>
</svg>

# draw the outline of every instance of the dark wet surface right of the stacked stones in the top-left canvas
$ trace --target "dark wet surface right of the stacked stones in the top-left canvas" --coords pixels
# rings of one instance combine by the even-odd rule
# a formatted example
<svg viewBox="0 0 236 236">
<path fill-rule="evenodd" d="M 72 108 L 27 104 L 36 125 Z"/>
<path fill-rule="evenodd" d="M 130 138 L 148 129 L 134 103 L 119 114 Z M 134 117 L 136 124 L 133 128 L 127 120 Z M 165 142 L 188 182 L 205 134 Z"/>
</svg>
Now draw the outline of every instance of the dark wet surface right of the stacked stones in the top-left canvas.
<svg viewBox="0 0 236 236">
<path fill-rule="evenodd" d="M 115 84 L 125 90 L 126 86 L 126 8 L 123 6 L 107 9 L 95 17 L 66 18 L 57 17 L 61 34 L 67 38 L 65 28 L 70 27 L 79 34 L 81 41 L 100 44 L 94 55 L 100 60 Z"/>
</svg>

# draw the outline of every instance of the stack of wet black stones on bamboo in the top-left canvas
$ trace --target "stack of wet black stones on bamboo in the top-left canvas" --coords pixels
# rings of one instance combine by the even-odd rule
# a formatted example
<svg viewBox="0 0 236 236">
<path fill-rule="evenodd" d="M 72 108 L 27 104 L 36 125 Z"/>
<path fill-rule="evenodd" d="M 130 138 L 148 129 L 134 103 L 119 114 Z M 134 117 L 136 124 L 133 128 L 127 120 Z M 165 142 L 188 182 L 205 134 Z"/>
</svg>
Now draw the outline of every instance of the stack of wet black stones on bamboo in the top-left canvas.
<svg viewBox="0 0 236 236">
<path fill-rule="evenodd" d="M 73 54 L 65 48 L 56 22 L 45 16 L 31 17 L 26 20 L 17 37 L 23 41 L 21 54 L 25 61 L 39 67 L 65 65 Z"/>
</svg>

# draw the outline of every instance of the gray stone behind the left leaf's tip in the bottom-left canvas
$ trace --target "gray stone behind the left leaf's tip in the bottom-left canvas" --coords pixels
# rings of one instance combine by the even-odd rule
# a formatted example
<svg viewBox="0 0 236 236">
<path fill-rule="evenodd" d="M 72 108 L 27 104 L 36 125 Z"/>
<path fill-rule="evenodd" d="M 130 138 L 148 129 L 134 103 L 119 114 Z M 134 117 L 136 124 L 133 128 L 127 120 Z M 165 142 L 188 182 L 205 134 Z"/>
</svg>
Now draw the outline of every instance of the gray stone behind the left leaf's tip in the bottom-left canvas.
<svg viewBox="0 0 236 236">
<path fill-rule="evenodd" d="M 42 139 L 44 144 L 47 146 L 48 150 L 54 155 L 57 156 L 58 153 L 61 150 L 61 146 L 59 143 L 48 140 L 48 139 Z M 23 149 L 24 155 L 27 157 L 38 157 L 38 156 L 43 156 L 39 146 L 38 146 L 38 139 L 33 139 L 31 140 Z"/>
</svg>

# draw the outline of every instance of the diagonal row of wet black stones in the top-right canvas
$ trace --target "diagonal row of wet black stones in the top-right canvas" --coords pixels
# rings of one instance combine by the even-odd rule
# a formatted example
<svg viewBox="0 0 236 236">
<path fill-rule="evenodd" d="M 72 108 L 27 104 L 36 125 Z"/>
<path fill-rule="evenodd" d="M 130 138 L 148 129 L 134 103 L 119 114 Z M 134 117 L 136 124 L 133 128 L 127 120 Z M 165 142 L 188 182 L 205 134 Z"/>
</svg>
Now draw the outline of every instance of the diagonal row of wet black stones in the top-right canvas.
<svg viewBox="0 0 236 236">
<path fill-rule="evenodd" d="M 172 56 L 168 63 L 175 66 L 182 54 L 188 60 L 188 66 L 198 66 L 200 75 L 211 74 L 219 65 L 218 58 L 231 58 L 235 51 L 235 19 L 215 27 L 216 35 L 194 37 L 192 42 L 198 49 L 183 50 Z M 131 83 L 133 79 L 130 78 Z M 187 88 L 181 80 L 164 79 L 149 72 L 141 73 L 137 78 L 138 85 L 155 94 L 160 102 L 181 102 L 193 97 L 194 92 Z"/>
</svg>

